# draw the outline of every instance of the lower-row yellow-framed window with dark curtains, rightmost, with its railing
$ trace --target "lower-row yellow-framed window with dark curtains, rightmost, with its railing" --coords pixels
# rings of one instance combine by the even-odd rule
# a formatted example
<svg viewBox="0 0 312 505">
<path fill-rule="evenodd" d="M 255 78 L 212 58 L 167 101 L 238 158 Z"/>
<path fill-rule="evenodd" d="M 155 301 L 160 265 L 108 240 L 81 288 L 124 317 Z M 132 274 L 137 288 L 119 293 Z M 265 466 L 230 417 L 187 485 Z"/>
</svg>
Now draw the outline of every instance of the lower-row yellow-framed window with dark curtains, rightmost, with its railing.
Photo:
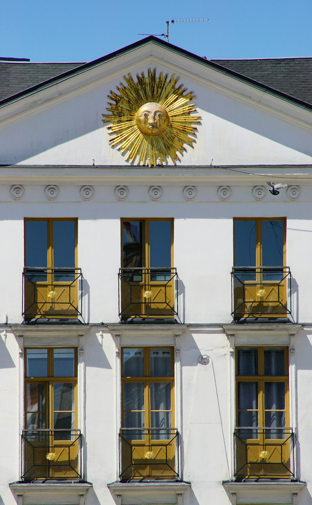
<svg viewBox="0 0 312 505">
<path fill-rule="evenodd" d="M 236 348 L 235 475 L 294 477 L 288 348 Z"/>
</svg>

